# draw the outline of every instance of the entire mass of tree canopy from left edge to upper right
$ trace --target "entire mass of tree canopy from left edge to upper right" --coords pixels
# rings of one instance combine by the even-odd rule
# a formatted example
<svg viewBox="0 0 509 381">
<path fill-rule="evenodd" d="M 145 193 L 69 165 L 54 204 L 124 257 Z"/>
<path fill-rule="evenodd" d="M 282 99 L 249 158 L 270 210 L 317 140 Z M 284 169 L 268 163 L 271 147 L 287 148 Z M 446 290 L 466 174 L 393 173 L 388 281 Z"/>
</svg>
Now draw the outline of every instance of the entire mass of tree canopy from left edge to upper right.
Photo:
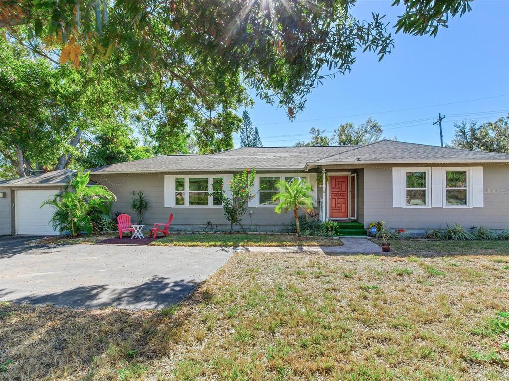
<svg viewBox="0 0 509 381">
<path fill-rule="evenodd" d="M 395 27 L 434 36 L 449 16 L 470 11 L 469 3 L 405 1 Z M 2 79 L 0 96 L 29 99 L 2 106 L 10 113 L 0 126 L 9 133 L 0 142 L 0 165 L 23 175 L 32 167 L 230 149 L 241 127 L 238 110 L 252 105 L 248 89 L 294 118 L 313 88 L 352 70 L 359 50 L 380 59 L 390 53 L 384 16 L 358 20 L 354 5 L 4 0 L 0 70 L 11 74 Z M 47 86 L 27 89 L 23 81 Z"/>
</svg>

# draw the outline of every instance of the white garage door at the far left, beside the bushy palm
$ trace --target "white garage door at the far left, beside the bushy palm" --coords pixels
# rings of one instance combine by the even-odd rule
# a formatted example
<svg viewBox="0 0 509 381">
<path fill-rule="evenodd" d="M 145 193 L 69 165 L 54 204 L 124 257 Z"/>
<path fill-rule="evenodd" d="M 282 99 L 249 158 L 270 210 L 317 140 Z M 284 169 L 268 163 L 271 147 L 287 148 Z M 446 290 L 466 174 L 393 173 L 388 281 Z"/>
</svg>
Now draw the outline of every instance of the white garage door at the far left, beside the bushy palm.
<svg viewBox="0 0 509 381">
<path fill-rule="evenodd" d="M 41 208 L 43 201 L 58 192 L 58 189 L 16 190 L 16 234 L 58 234 L 49 223 L 53 207 L 45 205 Z"/>
</svg>

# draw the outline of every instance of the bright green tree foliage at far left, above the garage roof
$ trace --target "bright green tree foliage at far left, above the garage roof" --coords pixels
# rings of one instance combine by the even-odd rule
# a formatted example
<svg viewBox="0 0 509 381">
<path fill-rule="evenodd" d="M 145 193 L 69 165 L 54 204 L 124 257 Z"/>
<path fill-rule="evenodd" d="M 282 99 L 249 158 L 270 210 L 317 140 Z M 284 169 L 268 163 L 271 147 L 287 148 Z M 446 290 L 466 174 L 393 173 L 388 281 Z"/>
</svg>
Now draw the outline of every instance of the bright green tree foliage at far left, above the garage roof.
<svg viewBox="0 0 509 381">
<path fill-rule="evenodd" d="M 51 168 L 72 135 L 79 76 L 0 38 L 0 160 L 19 176 Z"/>
</svg>

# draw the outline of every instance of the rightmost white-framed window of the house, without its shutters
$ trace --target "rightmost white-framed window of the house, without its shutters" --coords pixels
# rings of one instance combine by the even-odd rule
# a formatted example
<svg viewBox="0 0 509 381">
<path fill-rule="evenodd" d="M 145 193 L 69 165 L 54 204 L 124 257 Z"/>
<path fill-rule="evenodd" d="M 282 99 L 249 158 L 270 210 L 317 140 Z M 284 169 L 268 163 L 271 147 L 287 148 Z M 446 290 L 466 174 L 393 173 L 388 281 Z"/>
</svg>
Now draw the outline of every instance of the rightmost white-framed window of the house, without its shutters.
<svg viewBox="0 0 509 381">
<path fill-rule="evenodd" d="M 470 207 L 470 168 L 443 168 L 444 171 L 444 207 Z"/>
</svg>

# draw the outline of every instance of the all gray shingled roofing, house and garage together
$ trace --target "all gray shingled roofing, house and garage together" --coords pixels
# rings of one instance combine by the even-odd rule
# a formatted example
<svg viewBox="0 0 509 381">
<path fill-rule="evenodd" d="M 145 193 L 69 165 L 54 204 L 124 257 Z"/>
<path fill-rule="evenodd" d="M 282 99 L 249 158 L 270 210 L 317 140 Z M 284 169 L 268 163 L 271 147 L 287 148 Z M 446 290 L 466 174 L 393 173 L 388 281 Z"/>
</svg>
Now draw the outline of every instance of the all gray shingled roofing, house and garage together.
<svg viewBox="0 0 509 381">
<path fill-rule="evenodd" d="M 509 154 L 382 140 L 365 146 L 239 148 L 210 155 L 155 156 L 93 168 L 92 173 L 214 172 L 256 168 L 302 171 L 331 164 L 509 163 Z M 0 181 L 2 186 L 64 185 L 73 171 L 53 171 Z"/>
</svg>

